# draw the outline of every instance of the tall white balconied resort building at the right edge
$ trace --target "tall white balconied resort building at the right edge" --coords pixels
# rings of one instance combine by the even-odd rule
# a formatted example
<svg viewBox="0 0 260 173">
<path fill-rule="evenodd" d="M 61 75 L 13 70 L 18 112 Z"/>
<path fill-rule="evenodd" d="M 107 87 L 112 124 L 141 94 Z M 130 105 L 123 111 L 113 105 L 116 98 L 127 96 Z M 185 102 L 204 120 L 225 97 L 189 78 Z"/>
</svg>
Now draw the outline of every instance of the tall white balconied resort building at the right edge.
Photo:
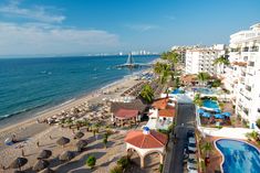
<svg viewBox="0 0 260 173">
<path fill-rule="evenodd" d="M 225 86 L 231 93 L 236 113 L 254 129 L 260 118 L 260 23 L 232 34 L 229 46 Z"/>
</svg>

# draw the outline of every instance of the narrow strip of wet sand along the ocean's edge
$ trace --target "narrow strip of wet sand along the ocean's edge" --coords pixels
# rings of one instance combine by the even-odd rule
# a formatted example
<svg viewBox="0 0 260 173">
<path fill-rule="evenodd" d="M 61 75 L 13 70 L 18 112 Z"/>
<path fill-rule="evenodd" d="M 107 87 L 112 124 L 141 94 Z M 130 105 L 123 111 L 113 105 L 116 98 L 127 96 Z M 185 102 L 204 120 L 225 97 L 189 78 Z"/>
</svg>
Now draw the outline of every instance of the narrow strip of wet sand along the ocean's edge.
<svg viewBox="0 0 260 173">
<path fill-rule="evenodd" d="M 103 87 L 98 87 L 95 90 L 82 94 L 79 97 L 65 100 L 64 102 L 61 102 L 56 106 L 52 106 L 45 110 L 33 113 L 33 117 L 27 117 L 25 119 L 23 119 L 21 121 L 17 121 L 10 126 L 7 125 L 7 127 L 3 127 L 0 129 L 0 139 L 3 133 L 10 133 L 10 131 L 13 132 L 13 131 L 17 131 L 18 129 L 25 129 L 25 128 L 30 127 L 32 123 L 38 123 L 37 122 L 38 119 L 46 119 L 49 117 L 52 117 L 52 116 L 61 112 L 62 110 L 70 109 L 72 107 L 75 107 L 75 106 L 84 102 L 84 101 L 90 101 L 91 98 L 95 98 L 95 97 L 98 97 L 100 95 L 102 95 L 103 90 L 116 87 L 118 84 L 124 83 L 125 80 L 129 80 L 129 78 L 132 78 L 133 76 L 139 75 L 144 72 L 149 72 L 149 71 L 150 71 L 150 68 L 146 68 L 146 69 L 139 71 L 137 73 L 134 73 L 133 75 L 123 76 L 123 78 L 114 80 L 112 83 L 108 83 L 107 85 L 105 85 Z"/>
</svg>

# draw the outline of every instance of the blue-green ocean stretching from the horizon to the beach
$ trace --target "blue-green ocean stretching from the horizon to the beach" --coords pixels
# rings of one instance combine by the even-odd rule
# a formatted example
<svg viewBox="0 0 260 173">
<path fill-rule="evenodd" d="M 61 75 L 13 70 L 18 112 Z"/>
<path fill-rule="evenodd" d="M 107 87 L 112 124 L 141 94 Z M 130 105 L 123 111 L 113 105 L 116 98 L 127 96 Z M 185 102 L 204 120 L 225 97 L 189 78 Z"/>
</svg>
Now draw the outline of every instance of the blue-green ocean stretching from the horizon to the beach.
<svg viewBox="0 0 260 173">
<path fill-rule="evenodd" d="M 158 55 L 134 56 L 149 63 Z M 0 58 L 0 127 L 33 117 L 144 68 L 115 68 L 127 56 Z"/>
</svg>

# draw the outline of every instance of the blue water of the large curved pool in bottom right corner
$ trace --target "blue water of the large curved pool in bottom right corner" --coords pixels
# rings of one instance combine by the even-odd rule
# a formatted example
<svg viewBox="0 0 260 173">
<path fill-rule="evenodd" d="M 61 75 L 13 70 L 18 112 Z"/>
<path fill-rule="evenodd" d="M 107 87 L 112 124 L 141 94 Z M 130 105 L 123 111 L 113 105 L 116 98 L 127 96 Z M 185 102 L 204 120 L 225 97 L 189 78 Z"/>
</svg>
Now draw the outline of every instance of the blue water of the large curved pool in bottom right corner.
<svg viewBox="0 0 260 173">
<path fill-rule="evenodd" d="M 216 145 L 225 158 L 223 173 L 260 172 L 260 151 L 252 145 L 229 139 L 220 139 Z"/>
</svg>

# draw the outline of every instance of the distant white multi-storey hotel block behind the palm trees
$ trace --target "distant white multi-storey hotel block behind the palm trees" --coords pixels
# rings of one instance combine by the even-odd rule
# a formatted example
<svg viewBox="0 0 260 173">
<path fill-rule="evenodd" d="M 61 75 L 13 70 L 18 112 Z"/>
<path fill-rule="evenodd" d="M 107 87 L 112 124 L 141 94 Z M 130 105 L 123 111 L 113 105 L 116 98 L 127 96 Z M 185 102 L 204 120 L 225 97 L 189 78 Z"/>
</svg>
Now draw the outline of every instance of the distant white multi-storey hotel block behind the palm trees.
<svg viewBox="0 0 260 173">
<path fill-rule="evenodd" d="M 225 55 L 225 45 L 216 44 L 210 47 L 197 47 L 186 51 L 186 74 L 198 74 L 206 72 L 210 75 L 217 75 L 217 65 L 214 61 L 219 56 Z"/>
</svg>

